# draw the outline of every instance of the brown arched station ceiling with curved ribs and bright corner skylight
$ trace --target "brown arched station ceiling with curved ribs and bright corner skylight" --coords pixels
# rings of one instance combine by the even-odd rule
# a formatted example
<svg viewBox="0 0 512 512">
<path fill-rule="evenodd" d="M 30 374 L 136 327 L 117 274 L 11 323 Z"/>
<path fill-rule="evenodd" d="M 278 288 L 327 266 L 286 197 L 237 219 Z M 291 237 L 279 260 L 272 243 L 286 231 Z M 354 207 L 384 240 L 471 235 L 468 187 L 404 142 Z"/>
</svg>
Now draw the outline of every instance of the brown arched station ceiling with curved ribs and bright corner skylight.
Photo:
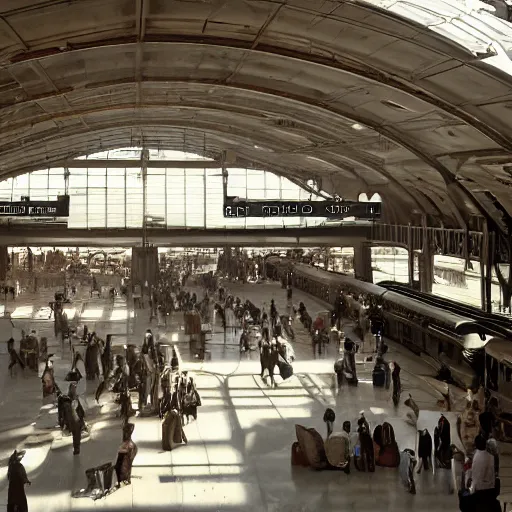
<svg viewBox="0 0 512 512">
<path fill-rule="evenodd" d="M 512 26 L 424 3 L 3 0 L 0 176 L 231 149 L 399 222 L 510 214 Z"/>
</svg>

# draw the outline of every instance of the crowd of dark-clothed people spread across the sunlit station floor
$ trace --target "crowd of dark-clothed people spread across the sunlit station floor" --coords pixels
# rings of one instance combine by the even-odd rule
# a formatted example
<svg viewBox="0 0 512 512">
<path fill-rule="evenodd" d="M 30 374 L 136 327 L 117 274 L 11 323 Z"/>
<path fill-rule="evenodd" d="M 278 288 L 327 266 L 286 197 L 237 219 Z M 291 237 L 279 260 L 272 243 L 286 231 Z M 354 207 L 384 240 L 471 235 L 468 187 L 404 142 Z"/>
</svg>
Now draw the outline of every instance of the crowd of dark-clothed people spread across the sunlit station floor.
<svg viewBox="0 0 512 512">
<path fill-rule="evenodd" d="M 228 259 L 226 259 L 226 262 Z M 240 331 L 239 345 L 241 352 L 258 348 L 261 362 L 261 376 L 267 371 L 272 385 L 273 371 L 277 366 L 283 378 L 288 378 L 295 359 L 292 342 L 294 318 L 311 333 L 313 353 L 321 349 L 325 336 L 330 332 L 338 333 L 343 328 L 346 304 L 340 295 L 331 312 L 330 321 L 317 316 L 312 318 L 303 302 L 295 309 L 293 291 L 287 281 L 283 281 L 286 293 L 286 311 L 280 314 L 274 300 L 257 307 L 250 300 L 242 300 L 219 286 L 217 277 L 204 274 L 199 285 L 205 290 L 199 300 L 196 293 L 185 289 L 190 272 L 183 268 L 170 268 L 162 272 L 159 281 L 149 289 L 149 324 L 156 318 L 159 326 L 166 326 L 168 317 L 177 312 L 196 312 L 202 322 L 213 319 L 215 311 L 221 318 L 225 331 Z M 135 294 L 136 295 L 136 294 Z M 142 295 L 142 294 L 141 294 Z M 138 303 L 143 308 L 144 302 Z M 372 331 L 379 337 L 383 326 L 379 324 L 378 311 L 372 313 Z M 377 332 L 378 331 L 378 332 Z M 330 341 L 330 340 L 329 340 Z M 328 342 L 329 342 L 328 341 Z M 338 386 L 344 382 L 357 385 L 356 353 L 358 344 L 350 338 L 342 338 L 342 357 L 334 364 Z M 80 454 L 81 439 L 88 434 L 86 408 L 82 404 L 77 384 L 82 378 L 98 382 L 96 399 L 105 391 L 111 391 L 119 404 L 122 417 L 122 444 L 119 447 L 114 464 L 100 469 L 92 468 L 88 475 L 88 486 L 80 496 L 99 496 L 107 492 L 98 490 L 93 485 L 94 472 L 115 471 L 118 485 L 130 483 L 131 468 L 137 454 L 137 446 L 132 439 L 135 424 L 130 419 L 136 415 L 132 404 L 132 393 L 138 394 L 138 411 L 140 415 L 158 415 L 162 421 L 162 448 L 172 450 L 181 444 L 187 444 L 185 426 L 197 419 L 201 397 L 196 387 L 195 378 L 180 365 L 179 353 L 171 347 L 168 354 L 167 344 L 159 340 L 148 328 L 137 344 L 127 344 L 122 353 L 115 350 L 112 338 L 103 340 L 95 332 L 89 332 L 84 326 L 80 332 L 71 329 L 70 347 L 81 345 L 84 356 L 76 351 L 72 367 L 66 375 L 69 387 L 63 393 L 56 383 L 52 366 L 52 354 L 48 354 L 47 341 L 39 339 L 34 331 L 26 335 L 20 343 L 20 354 L 14 349 L 14 340 L 9 341 L 9 370 L 11 375 L 18 368 L 38 370 L 39 362 L 44 360 L 42 372 L 43 397 L 55 401 L 58 409 L 60 429 L 73 440 L 73 453 Z M 394 361 L 389 364 L 386 359 L 387 346 L 384 342 L 375 347 L 374 385 L 392 388 L 391 399 L 395 407 L 400 404 L 402 384 L 401 367 Z M 84 373 L 79 369 L 83 359 Z M 409 403 L 413 403 L 412 397 Z M 407 404 L 407 402 L 406 402 Z M 414 409 L 414 407 L 411 406 Z M 417 409 L 417 408 L 416 408 Z M 460 506 L 463 512 L 493 510 L 499 494 L 499 455 L 493 435 L 492 417 L 481 413 L 473 401 L 468 402 L 466 411 L 461 416 L 459 429 L 467 458 L 464 464 Z M 415 419 L 418 411 L 415 411 Z M 376 466 L 396 468 L 406 490 L 416 493 L 414 473 L 429 470 L 433 460 L 440 471 L 450 470 L 457 449 L 451 441 L 451 427 L 448 419 L 441 414 L 435 430 L 430 433 L 423 429 L 418 432 L 417 453 L 412 449 L 399 450 L 394 430 L 390 423 L 384 422 L 370 428 L 364 413 L 357 419 L 357 427 L 352 430 L 351 421 L 342 422 L 341 429 L 335 428 L 336 415 L 332 409 L 324 414 L 327 436 L 318 443 L 319 434 L 314 429 L 297 426 L 297 443 L 292 447 L 292 463 L 308 465 L 315 469 L 342 470 L 350 473 L 353 466 L 358 471 L 374 472 Z M 414 423 L 415 424 L 415 423 Z M 488 426 L 490 424 L 490 427 Z M 315 443 L 308 443 L 307 436 L 313 436 Z M 316 436 L 316 437 L 315 437 Z M 321 436 L 320 436 L 321 438 Z M 317 446 L 318 452 L 311 453 L 311 446 Z M 322 451 L 323 450 L 323 451 Z M 9 461 L 9 503 L 25 511 L 25 485 L 30 484 L 22 464 L 23 452 L 14 452 Z M 110 468 L 110 469 L 109 469 Z M 451 476 L 449 477 L 451 478 Z M 90 479 L 90 481 L 89 481 Z M 95 480 L 97 482 L 97 479 Z M 9 509 L 11 510 L 11 509 Z"/>
</svg>

